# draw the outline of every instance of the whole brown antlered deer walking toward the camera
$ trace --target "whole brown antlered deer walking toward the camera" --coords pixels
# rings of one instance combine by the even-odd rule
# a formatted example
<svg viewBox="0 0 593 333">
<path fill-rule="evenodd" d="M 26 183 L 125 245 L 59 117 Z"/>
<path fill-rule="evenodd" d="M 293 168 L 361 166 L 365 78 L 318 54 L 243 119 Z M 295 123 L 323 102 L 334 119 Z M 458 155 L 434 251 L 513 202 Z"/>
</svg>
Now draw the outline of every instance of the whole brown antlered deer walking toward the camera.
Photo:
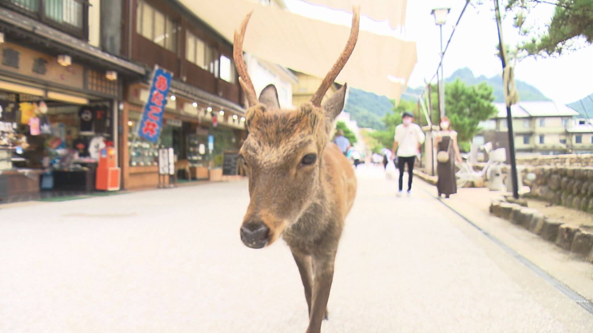
<svg viewBox="0 0 593 333">
<path fill-rule="evenodd" d="M 247 171 L 250 202 L 240 238 L 249 248 L 282 237 L 297 263 L 307 300 L 308 333 L 320 332 L 344 220 L 356 196 L 355 172 L 330 135 L 342 112 L 347 85 L 321 105 L 358 39 L 359 8 L 353 8 L 346 47 L 317 91 L 297 110 L 280 108 L 278 91 L 268 85 L 256 97 L 243 59 L 243 39 L 253 12 L 235 30 L 233 58 L 248 103 L 248 136 L 239 152 Z"/>
</svg>

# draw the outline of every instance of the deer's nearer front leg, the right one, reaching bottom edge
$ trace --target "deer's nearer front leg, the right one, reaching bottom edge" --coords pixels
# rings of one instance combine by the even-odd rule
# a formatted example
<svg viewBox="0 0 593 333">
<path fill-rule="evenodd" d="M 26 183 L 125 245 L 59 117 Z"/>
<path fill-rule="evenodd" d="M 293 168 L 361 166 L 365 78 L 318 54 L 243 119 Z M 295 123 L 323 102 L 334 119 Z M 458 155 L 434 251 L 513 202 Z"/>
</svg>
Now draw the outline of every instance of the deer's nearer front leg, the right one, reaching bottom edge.
<svg viewBox="0 0 593 333">
<path fill-rule="evenodd" d="M 331 282 L 333 281 L 335 255 L 313 257 L 313 295 L 311 299 L 311 315 L 307 333 L 321 331 L 321 322 L 327 318 L 327 300 L 330 297 Z"/>
</svg>

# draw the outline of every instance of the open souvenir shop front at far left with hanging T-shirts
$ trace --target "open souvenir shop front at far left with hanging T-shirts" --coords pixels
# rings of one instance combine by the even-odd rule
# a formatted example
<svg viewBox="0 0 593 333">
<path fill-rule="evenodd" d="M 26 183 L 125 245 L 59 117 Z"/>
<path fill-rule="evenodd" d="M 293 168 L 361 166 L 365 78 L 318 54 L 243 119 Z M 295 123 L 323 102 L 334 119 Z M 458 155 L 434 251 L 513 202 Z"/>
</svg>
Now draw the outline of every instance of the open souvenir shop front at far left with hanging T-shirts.
<svg viewBox="0 0 593 333">
<path fill-rule="evenodd" d="M 17 44 L 0 55 L 0 202 L 94 191 L 117 146 L 117 79 Z"/>
</svg>

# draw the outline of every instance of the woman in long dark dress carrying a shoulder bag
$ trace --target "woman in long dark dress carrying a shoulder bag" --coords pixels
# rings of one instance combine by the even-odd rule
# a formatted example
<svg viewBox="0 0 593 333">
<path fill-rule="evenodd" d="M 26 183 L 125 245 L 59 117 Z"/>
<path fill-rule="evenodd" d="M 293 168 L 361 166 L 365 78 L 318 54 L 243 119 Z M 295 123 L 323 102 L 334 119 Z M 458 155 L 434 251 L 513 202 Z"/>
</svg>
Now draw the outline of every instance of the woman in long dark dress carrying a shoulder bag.
<svg viewBox="0 0 593 333">
<path fill-rule="evenodd" d="M 457 193 L 457 181 L 455 180 L 455 159 L 461 162 L 461 154 L 457 145 L 457 132 L 451 129 L 451 121 L 447 117 L 441 118 L 441 130 L 435 136 L 436 174 L 438 181 L 436 189 L 439 197 L 445 194 L 448 198 L 451 194 Z"/>
</svg>

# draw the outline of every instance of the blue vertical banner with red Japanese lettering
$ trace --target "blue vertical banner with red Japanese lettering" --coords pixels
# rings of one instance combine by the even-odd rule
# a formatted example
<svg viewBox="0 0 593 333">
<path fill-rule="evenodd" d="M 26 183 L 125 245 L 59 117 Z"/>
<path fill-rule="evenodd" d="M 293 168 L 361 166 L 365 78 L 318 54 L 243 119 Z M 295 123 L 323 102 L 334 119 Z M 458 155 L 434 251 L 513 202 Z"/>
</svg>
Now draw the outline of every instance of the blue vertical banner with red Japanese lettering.
<svg viewBox="0 0 593 333">
<path fill-rule="evenodd" d="M 154 143 L 157 143 L 158 137 L 161 135 L 162 114 L 167 104 L 172 76 L 172 73 L 158 66 L 155 66 L 152 72 L 152 83 L 148 101 L 144 105 L 140 126 L 138 126 L 138 135 Z"/>
</svg>

